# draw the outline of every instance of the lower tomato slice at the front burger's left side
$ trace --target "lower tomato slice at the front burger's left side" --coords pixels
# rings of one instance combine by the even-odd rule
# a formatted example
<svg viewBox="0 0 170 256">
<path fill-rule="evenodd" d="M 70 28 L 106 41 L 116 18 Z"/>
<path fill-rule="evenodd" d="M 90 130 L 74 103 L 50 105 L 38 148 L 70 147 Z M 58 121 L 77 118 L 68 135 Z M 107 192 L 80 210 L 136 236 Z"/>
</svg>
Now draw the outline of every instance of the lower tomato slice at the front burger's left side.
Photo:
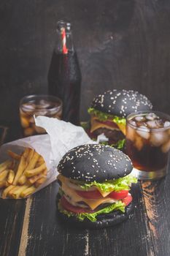
<svg viewBox="0 0 170 256">
<path fill-rule="evenodd" d="M 78 206 L 72 206 L 71 203 L 69 203 L 65 197 L 61 197 L 61 205 L 66 211 L 72 211 L 75 214 L 81 214 L 83 212 L 87 212 L 89 214 L 92 214 L 94 211 L 90 210 L 89 208 L 81 208 Z"/>
</svg>

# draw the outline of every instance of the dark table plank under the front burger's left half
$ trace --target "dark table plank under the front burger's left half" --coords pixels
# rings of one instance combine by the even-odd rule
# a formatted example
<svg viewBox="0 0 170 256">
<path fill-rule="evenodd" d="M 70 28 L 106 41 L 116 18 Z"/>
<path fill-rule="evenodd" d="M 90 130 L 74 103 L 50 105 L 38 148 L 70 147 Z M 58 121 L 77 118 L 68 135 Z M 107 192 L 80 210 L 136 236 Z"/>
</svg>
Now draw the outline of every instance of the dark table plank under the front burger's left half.
<svg viewBox="0 0 170 256">
<path fill-rule="evenodd" d="M 29 222 L 23 232 L 27 236 L 20 244 L 20 256 L 78 255 L 85 250 L 87 231 L 72 230 L 63 227 L 56 216 L 55 197 L 58 192 L 57 182 L 37 192 L 25 216 Z M 27 245 L 27 246 L 26 246 Z M 84 248 L 84 249 L 83 249 Z"/>
</svg>

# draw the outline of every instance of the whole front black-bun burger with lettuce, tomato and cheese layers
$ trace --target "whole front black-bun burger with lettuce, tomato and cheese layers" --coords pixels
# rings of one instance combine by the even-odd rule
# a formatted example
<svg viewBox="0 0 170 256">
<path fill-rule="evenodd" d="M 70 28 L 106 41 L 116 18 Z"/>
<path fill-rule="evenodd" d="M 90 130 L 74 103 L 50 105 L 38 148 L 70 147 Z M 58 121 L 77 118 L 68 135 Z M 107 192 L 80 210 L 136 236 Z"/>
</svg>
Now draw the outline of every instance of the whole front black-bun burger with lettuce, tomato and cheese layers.
<svg viewBox="0 0 170 256">
<path fill-rule="evenodd" d="M 101 144 L 77 146 L 58 165 L 58 214 L 75 227 L 101 228 L 128 218 L 136 178 L 122 151 Z"/>
</svg>

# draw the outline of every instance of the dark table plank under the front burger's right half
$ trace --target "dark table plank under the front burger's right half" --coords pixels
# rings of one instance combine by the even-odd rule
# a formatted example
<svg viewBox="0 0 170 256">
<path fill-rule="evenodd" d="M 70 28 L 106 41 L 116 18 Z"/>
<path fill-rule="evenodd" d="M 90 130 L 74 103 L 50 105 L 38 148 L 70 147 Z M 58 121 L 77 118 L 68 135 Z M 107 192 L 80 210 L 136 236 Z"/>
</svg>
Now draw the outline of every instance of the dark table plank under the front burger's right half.
<svg viewBox="0 0 170 256">
<path fill-rule="evenodd" d="M 134 185 L 133 196 L 136 207 L 134 216 L 103 232 L 91 231 L 88 255 L 155 255 L 139 184 Z"/>
</svg>

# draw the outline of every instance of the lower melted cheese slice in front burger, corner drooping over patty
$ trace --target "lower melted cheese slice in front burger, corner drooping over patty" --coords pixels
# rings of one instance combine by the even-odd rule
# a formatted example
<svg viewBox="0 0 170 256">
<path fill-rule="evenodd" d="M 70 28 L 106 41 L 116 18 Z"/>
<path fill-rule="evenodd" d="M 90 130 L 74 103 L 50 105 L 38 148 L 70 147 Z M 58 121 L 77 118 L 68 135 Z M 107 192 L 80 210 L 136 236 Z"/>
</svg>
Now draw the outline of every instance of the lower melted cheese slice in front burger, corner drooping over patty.
<svg viewBox="0 0 170 256">
<path fill-rule="evenodd" d="M 80 197 L 80 195 L 77 195 L 77 192 L 74 191 L 74 189 L 71 189 L 68 187 L 65 183 L 62 183 L 61 189 L 63 192 L 71 197 L 71 201 L 74 203 L 77 202 L 85 202 L 92 210 L 97 208 L 98 206 L 101 205 L 101 203 L 114 203 L 116 200 L 112 198 L 100 198 L 100 199 L 86 199 L 83 197 Z"/>
</svg>

